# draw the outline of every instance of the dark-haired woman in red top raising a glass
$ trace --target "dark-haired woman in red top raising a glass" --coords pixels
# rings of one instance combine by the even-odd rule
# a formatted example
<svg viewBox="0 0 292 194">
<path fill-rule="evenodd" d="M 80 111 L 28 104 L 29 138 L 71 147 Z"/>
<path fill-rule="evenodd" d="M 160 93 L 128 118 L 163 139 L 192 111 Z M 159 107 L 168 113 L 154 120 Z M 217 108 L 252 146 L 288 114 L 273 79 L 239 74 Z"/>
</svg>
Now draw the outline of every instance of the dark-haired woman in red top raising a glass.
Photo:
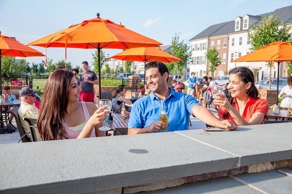
<svg viewBox="0 0 292 194">
<path fill-rule="evenodd" d="M 229 119 L 237 126 L 263 124 L 268 113 L 268 103 L 260 99 L 255 86 L 254 74 L 246 67 L 236 67 L 229 72 L 231 96 L 213 96 L 219 105 L 218 116 Z"/>
</svg>

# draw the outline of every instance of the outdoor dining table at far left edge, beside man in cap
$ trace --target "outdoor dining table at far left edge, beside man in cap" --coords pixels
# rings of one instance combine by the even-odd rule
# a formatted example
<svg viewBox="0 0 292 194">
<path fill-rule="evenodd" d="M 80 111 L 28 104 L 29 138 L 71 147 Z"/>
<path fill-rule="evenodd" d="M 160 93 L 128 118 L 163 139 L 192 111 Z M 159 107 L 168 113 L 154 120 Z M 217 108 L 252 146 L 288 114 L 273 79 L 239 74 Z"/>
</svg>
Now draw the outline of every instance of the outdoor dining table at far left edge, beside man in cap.
<svg viewBox="0 0 292 194">
<path fill-rule="evenodd" d="M 19 106 L 21 103 L 21 100 L 14 100 L 13 102 L 10 102 L 10 101 L 1 101 L 0 102 L 0 134 L 1 133 L 11 133 L 11 132 L 14 132 L 15 130 L 14 129 L 9 129 L 8 126 L 8 111 L 10 109 L 11 106 Z M 2 108 L 4 108 L 4 116 L 2 116 L 3 114 L 3 111 L 2 111 Z M 3 120 L 4 118 L 4 120 Z M 4 128 L 3 126 L 3 122 L 6 123 L 6 127 Z"/>
</svg>

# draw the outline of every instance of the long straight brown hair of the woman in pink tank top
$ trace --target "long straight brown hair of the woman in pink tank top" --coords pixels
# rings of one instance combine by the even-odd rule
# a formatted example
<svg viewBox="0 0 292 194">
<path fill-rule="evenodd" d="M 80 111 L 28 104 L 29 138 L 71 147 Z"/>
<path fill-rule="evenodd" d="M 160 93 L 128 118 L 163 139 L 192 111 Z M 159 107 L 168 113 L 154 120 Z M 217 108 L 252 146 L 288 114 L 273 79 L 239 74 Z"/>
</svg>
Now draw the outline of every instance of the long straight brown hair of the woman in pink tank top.
<svg viewBox="0 0 292 194">
<path fill-rule="evenodd" d="M 55 70 L 49 77 L 37 118 L 37 129 L 44 141 L 68 139 L 62 125 L 69 102 L 69 88 L 74 74 Z"/>
</svg>

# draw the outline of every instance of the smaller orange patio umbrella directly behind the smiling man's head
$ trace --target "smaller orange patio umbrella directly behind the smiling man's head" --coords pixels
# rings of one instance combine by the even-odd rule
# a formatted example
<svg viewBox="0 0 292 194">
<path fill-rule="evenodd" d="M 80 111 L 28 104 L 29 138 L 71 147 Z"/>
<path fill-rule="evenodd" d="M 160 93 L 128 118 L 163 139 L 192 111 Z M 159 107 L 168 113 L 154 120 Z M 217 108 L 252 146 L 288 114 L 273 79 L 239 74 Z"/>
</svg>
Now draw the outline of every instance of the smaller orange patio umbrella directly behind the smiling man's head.
<svg viewBox="0 0 292 194">
<path fill-rule="evenodd" d="M 183 61 L 167 52 L 161 50 L 161 48 L 154 47 L 141 47 L 128 49 L 123 52 L 120 52 L 116 55 L 111 56 L 110 58 L 119 59 L 122 61 L 141 61 L 146 62 L 159 61 L 164 63 L 171 63 L 176 61 Z M 144 68 L 145 75 L 145 68 Z M 145 85 L 145 79 L 144 79 Z"/>
</svg>

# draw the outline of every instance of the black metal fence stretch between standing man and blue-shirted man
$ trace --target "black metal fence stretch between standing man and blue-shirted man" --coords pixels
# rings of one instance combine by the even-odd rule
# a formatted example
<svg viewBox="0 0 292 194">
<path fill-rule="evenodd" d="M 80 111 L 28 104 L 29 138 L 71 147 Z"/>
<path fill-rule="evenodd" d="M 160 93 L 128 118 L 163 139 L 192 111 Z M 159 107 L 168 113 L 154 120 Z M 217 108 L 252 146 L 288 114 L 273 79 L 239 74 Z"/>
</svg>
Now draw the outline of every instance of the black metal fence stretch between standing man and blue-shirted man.
<svg viewBox="0 0 292 194">
<path fill-rule="evenodd" d="M 131 79 L 102 78 L 101 86 L 125 85 L 128 90 L 140 91 L 143 88 L 143 81 Z"/>
</svg>

